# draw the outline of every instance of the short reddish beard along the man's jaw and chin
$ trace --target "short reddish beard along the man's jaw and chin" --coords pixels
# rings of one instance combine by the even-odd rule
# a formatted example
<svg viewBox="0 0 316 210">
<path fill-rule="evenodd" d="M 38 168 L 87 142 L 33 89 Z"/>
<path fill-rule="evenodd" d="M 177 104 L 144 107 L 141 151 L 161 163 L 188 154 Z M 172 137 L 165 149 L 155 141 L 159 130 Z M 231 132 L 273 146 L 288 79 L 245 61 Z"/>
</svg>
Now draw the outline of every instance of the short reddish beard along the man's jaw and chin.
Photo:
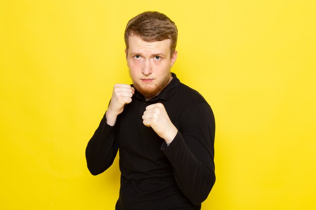
<svg viewBox="0 0 316 210">
<path fill-rule="evenodd" d="M 160 83 L 160 84 L 156 84 L 154 87 L 150 87 L 151 85 L 139 85 L 137 82 L 135 82 L 133 80 L 133 85 L 134 85 L 134 88 L 141 94 L 145 97 L 145 99 L 149 100 L 155 96 L 157 96 L 158 94 L 160 94 L 160 92 L 162 92 L 166 87 L 167 85 L 169 84 L 170 82 L 170 76 L 171 74 L 169 73 L 164 79 L 163 81 Z"/>
</svg>

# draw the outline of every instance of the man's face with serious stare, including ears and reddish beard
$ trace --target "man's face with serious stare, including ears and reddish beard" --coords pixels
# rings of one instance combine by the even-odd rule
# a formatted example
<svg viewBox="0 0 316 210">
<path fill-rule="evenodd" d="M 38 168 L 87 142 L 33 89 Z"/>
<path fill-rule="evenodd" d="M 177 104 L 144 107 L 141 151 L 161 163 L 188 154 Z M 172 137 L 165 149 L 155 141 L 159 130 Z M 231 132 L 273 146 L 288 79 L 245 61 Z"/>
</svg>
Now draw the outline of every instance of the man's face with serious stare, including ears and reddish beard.
<svg viewBox="0 0 316 210">
<path fill-rule="evenodd" d="M 172 80 L 170 68 L 177 59 L 171 56 L 171 39 L 146 42 L 139 36 L 129 36 L 125 49 L 127 65 L 134 87 L 146 99 L 158 95 Z"/>
</svg>

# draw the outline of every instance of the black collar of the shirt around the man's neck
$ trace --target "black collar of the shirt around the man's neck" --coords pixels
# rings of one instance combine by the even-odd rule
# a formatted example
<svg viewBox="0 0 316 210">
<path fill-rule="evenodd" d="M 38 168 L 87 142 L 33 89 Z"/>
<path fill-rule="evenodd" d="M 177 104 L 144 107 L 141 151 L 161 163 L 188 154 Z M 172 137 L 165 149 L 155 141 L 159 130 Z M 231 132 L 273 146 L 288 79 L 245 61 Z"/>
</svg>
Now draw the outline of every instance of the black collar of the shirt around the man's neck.
<svg viewBox="0 0 316 210">
<path fill-rule="evenodd" d="M 171 73 L 171 76 L 172 76 L 172 80 L 166 86 L 166 88 L 164 88 L 164 90 L 162 90 L 162 92 L 160 92 L 160 94 L 158 94 L 157 96 L 153 97 L 152 99 L 149 99 L 148 102 L 149 101 L 156 101 L 158 99 L 162 99 L 164 101 L 167 101 L 173 95 L 173 93 L 176 91 L 177 87 L 180 84 L 180 80 L 177 78 L 176 74 L 174 74 L 174 73 Z M 139 98 L 139 99 L 145 101 L 144 96 L 141 95 L 137 90 L 135 90 L 134 96 L 136 98 Z"/>
</svg>

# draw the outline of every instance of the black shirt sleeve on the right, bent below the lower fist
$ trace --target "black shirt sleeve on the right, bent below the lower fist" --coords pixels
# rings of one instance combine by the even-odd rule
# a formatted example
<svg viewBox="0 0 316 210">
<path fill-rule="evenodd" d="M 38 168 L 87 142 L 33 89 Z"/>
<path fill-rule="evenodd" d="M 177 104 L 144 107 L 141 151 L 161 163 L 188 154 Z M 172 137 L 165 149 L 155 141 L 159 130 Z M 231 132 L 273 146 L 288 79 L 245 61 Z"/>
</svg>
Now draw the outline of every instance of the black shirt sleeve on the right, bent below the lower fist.
<svg viewBox="0 0 316 210">
<path fill-rule="evenodd" d="M 192 107 L 183 117 L 178 133 L 162 151 L 173 166 L 182 193 L 195 205 L 204 201 L 215 183 L 215 120 L 207 103 Z"/>
</svg>

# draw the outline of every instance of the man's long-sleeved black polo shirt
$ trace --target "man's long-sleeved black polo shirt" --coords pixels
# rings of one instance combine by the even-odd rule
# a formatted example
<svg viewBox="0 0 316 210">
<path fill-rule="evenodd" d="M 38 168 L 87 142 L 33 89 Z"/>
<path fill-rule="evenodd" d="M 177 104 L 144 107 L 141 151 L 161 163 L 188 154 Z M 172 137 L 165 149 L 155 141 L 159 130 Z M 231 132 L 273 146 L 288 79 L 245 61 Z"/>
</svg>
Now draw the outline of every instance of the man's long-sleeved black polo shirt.
<svg viewBox="0 0 316 210">
<path fill-rule="evenodd" d="M 93 175 L 107 170 L 120 150 L 121 188 L 116 209 L 200 209 L 215 183 L 212 109 L 175 74 L 168 86 L 146 101 L 135 91 L 114 126 L 104 114 L 86 148 Z M 162 103 L 178 133 L 167 146 L 143 124 L 146 106 Z"/>
</svg>

